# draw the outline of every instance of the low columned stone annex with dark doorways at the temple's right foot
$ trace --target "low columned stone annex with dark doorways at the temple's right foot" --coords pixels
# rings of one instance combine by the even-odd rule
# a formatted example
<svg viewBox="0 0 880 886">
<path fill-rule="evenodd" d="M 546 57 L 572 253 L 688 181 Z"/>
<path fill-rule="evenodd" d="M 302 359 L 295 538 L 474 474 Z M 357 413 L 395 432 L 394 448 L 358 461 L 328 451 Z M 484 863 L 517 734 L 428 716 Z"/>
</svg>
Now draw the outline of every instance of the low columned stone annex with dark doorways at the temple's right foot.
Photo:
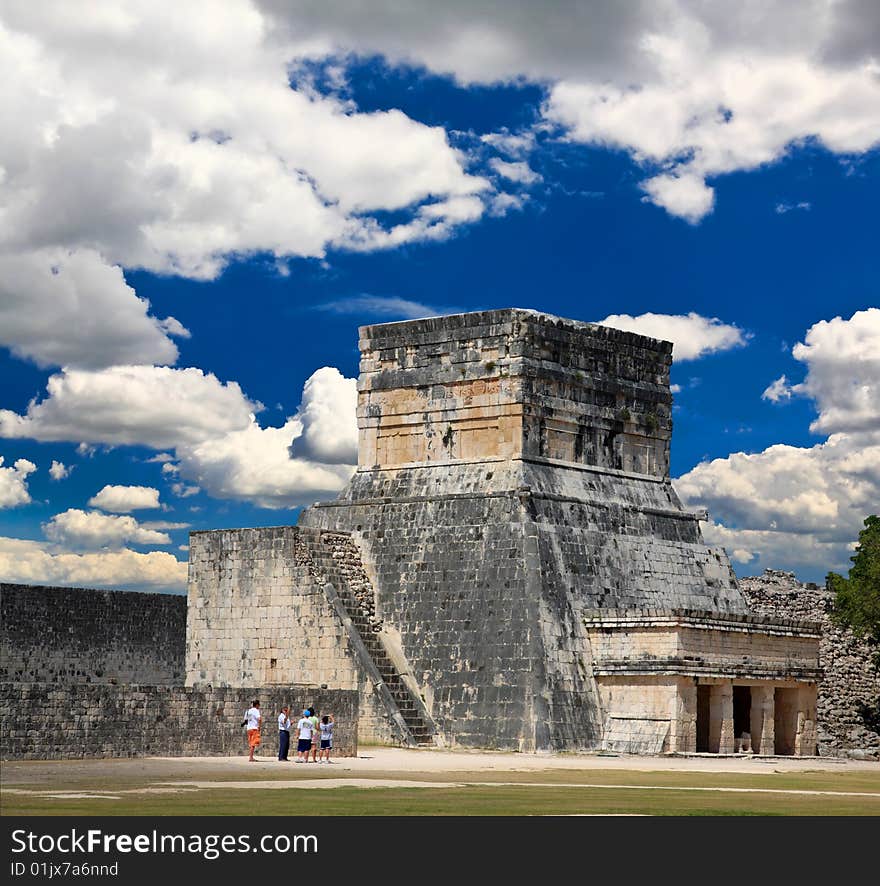
<svg viewBox="0 0 880 886">
<path fill-rule="evenodd" d="M 596 609 L 584 622 L 609 750 L 815 753 L 818 624 L 651 609 Z"/>
</svg>

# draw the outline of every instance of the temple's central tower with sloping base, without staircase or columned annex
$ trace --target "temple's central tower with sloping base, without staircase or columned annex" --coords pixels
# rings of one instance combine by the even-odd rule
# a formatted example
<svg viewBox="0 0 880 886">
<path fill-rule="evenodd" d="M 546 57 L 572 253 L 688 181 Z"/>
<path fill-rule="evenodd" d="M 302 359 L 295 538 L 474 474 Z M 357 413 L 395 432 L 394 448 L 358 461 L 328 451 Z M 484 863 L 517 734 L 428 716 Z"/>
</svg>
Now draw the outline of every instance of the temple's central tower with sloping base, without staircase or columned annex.
<svg viewBox="0 0 880 886">
<path fill-rule="evenodd" d="M 668 471 L 671 345 L 519 309 L 361 329 L 352 533 L 454 745 L 596 747 L 582 613 L 745 614 Z"/>
</svg>

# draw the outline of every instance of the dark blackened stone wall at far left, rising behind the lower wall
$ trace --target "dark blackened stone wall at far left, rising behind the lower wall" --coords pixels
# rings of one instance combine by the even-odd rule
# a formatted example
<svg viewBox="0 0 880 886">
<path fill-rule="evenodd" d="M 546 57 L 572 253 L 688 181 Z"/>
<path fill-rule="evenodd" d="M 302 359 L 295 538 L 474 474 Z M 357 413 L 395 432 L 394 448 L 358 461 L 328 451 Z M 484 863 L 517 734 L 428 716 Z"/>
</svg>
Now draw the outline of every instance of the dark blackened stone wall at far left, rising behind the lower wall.
<svg viewBox="0 0 880 886">
<path fill-rule="evenodd" d="M 0 681 L 182 684 L 186 597 L 0 583 Z"/>
</svg>

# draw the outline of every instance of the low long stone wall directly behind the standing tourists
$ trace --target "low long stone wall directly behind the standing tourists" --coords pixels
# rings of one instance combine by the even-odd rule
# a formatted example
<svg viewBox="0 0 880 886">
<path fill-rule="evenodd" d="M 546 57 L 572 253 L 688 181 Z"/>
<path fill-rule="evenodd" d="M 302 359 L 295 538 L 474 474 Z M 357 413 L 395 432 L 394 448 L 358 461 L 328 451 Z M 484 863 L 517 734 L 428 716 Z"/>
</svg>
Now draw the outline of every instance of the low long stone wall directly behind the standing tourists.
<svg viewBox="0 0 880 886">
<path fill-rule="evenodd" d="M 334 754 L 357 756 L 358 693 L 307 686 L 201 688 L 111 684 L 0 684 L 0 757 L 230 757 L 248 752 L 241 723 L 263 711 L 258 755 L 277 757 L 277 717 L 305 707 L 332 714 Z M 295 738 L 295 735 L 294 735 Z M 295 745 L 294 745 L 295 746 Z"/>
</svg>

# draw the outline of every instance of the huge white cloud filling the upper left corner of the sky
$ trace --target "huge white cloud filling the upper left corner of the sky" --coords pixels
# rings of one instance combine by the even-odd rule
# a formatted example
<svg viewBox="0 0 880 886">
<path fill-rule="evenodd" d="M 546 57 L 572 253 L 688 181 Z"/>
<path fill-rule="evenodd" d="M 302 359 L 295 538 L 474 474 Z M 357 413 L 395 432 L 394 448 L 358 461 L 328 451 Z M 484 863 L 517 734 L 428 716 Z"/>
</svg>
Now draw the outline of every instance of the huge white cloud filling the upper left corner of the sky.
<svg viewBox="0 0 880 886">
<path fill-rule="evenodd" d="M 441 127 L 291 88 L 307 54 L 248 0 L 222 15 L 204 0 L 5 4 L 0 242 L 204 279 L 249 252 L 319 257 L 361 242 L 365 213 L 487 187 Z"/>
</svg>

